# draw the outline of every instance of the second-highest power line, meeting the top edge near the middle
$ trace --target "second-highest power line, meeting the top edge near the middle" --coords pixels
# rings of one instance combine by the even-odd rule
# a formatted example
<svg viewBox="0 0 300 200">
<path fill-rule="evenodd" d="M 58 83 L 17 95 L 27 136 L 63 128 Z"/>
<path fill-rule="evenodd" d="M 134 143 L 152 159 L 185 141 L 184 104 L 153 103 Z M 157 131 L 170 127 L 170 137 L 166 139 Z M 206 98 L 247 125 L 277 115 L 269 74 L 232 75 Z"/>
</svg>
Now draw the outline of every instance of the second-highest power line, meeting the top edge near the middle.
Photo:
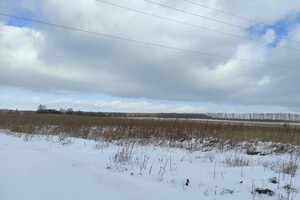
<svg viewBox="0 0 300 200">
<path fill-rule="evenodd" d="M 242 30 L 246 30 L 247 29 L 247 27 L 243 27 L 243 26 L 240 26 L 240 25 L 237 25 L 237 24 L 232 24 L 232 23 L 229 23 L 229 22 L 224 22 L 224 21 L 217 20 L 217 19 L 214 19 L 214 18 L 211 18 L 211 17 L 203 16 L 203 15 L 198 15 L 196 13 L 192 13 L 192 12 L 180 10 L 178 8 L 170 7 L 168 5 L 160 4 L 160 3 L 157 3 L 157 2 L 154 2 L 154 1 L 149 1 L 149 0 L 142 0 L 142 1 L 154 4 L 154 5 L 157 5 L 157 6 L 160 6 L 160 7 L 168 8 L 170 10 L 175 10 L 177 12 L 182 12 L 182 13 L 185 13 L 185 14 L 188 14 L 188 15 L 192 15 L 192 16 L 195 16 L 195 17 L 200 17 L 200 18 L 203 18 L 203 19 L 206 19 L 206 20 L 210 20 L 210 21 L 218 22 L 218 23 L 225 24 L 225 25 L 228 25 L 228 26 L 236 27 L 236 28 L 239 28 L 239 29 L 242 29 Z M 263 31 L 251 30 L 251 32 L 260 33 L 260 34 L 264 34 L 264 35 L 271 36 L 271 37 L 278 37 L 278 38 L 285 39 L 287 41 L 300 43 L 300 41 L 297 41 L 297 40 L 291 40 L 291 39 L 288 39 L 288 38 L 285 38 L 285 37 L 282 37 L 282 36 L 265 33 Z"/>
</svg>

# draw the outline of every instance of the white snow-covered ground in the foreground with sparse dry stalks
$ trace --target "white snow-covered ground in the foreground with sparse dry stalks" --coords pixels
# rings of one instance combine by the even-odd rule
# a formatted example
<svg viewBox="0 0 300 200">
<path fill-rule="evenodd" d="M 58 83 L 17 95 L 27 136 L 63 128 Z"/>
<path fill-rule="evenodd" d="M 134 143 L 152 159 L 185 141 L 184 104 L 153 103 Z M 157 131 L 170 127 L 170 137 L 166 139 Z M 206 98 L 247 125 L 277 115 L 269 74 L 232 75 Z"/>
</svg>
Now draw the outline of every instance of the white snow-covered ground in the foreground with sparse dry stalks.
<svg viewBox="0 0 300 200">
<path fill-rule="evenodd" d="M 294 153 L 58 140 L 0 131 L 0 200 L 300 199 L 299 170 L 294 177 L 283 173 L 299 161 Z"/>
</svg>

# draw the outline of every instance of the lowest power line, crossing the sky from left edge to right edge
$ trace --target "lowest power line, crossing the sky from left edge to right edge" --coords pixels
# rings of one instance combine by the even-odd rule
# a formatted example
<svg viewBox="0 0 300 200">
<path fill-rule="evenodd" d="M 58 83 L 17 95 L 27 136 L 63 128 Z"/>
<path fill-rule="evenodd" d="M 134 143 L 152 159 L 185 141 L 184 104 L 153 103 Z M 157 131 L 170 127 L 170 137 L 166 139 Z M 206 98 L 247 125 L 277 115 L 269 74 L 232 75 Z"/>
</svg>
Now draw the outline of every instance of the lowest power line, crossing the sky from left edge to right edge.
<svg viewBox="0 0 300 200">
<path fill-rule="evenodd" d="M 265 62 L 255 61 L 255 60 L 248 60 L 248 59 L 242 59 L 242 58 L 236 58 L 236 57 L 230 57 L 230 56 L 211 54 L 211 53 L 206 53 L 206 52 L 203 52 L 203 51 L 172 47 L 172 46 L 167 46 L 167 45 L 163 45 L 163 44 L 145 42 L 145 41 L 126 38 L 126 37 L 122 37 L 122 36 L 109 35 L 109 34 L 104 34 L 104 33 L 100 33 L 100 32 L 94 32 L 94 31 L 84 30 L 84 29 L 80 29 L 80 28 L 60 25 L 60 24 L 56 24 L 56 23 L 45 22 L 45 21 L 41 21 L 41 20 L 34 20 L 34 19 L 25 18 L 25 17 L 19 17 L 19 16 L 15 16 L 15 15 L 2 13 L 2 12 L 0 12 L 0 15 L 5 16 L 5 17 L 20 19 L 20 20 L 27 20 L 27 21 L 31 21 L 31 22 L 39 23 L 39 24 L 43 24 L 43 25 L 59 27 L 59 28 L 62 28 L 62 29 L 78 31 L 78 32 L 82 32 L 82 33 L 88 33 L 88 34 L 92 34 L 92 35 L 95 35 L 95 36 L 107 37 L 107 38 L 123 40 L 123 41 L 133 42 L 133 43 L 139 43 L 139 44 L 144 44 L 144 45 L 148 45 L 148 46 L 160 47 L 160 48 L 164 48 L 164 49 L 171 49 L 171 50 L 187 52 L 187 53 L 193 53 L 193 54 L 199 54 L 199 55 L 210 56 L 210 57 L 221 58 L 221 59 L 232 59 L 232 60 L 237 60 L 237 61 L 240 61 L 240 62 L 255 63 L 255 64 L 259 64 L 259 65 L 266 65 L 266 66 L 272 66 L 272 67 L 300 70 L 300 67 L 294 67 L 294 66 L 288 66 L 288 65 L 279 65 L 279 64 L 273 64 L 273 63 L 265 63 Z"/>
</svg>

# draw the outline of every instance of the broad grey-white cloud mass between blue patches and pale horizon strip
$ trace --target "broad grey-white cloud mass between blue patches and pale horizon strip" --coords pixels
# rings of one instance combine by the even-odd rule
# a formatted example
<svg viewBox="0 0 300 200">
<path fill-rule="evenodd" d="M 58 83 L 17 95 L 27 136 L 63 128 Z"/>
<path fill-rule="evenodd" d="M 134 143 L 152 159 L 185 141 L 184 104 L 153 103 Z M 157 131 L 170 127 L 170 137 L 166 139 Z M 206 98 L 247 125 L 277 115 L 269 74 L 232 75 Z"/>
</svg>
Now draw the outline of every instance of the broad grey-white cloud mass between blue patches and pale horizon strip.
<svg viewBox="0 0 300 200">
<path fill-rule="evenodd" d="M 122 1 L 113 2 L 125 4 Z M 160 2 L 245 27 L 253 24 L 183 2 Z M 207 1 L 205 4 L 268 23 L 300 10 L 300 6 L 295 6 L 297 3 L 274 3 L 270 0 L 247 3 Z M 241 36 L 248 34 L 233 27 L 158 9 L 142 1 L 129 1 L 126 6 Z M 8 7 L 8 3 L 0 3 L 1 9 L 10 10 Z M 31 0 L 20 7 L 45 21 L 85 30 L 279 65 L 298 67 L 300 62 L 299 52 L 296 51 L 268 48 L 259 43 L 164 22 L 92 0 Z M 300 32 L 298 27 L 293 30 Z M 297 35 L 287 37 L 300 40 Z M 257 39 L 267 38 L 260 36 Z M 288 41 L 282 40 L 280 45 L 286 43 Z M 300 70 L 179 52 L 38 24 L 27 28 L 0 25 L 0 45 L 0 85 L 3 86 L 49 93 L 279 105 L 295 110 L 300 107 L 297 86 Z"/>
</svg>

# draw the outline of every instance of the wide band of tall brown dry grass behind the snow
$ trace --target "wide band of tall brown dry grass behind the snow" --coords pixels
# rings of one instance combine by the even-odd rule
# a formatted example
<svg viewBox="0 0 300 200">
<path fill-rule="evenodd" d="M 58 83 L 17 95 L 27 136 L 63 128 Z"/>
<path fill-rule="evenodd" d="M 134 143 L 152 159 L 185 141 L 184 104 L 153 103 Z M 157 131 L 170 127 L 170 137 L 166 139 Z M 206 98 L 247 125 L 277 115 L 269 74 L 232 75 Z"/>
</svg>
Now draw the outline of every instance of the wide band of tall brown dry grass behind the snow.
<svg viewBox="0 0 300 200">
<path fill-rule="evenodd" d="M 163 141 L 167 144 L 213 137 L 218 142 L 272 141 L 300 145 L 300 126 L 182 119 L 138 119 L 54 114 L 0 114 L 0 128 L 29 134 L 88 139 Z"/>
</svg>

